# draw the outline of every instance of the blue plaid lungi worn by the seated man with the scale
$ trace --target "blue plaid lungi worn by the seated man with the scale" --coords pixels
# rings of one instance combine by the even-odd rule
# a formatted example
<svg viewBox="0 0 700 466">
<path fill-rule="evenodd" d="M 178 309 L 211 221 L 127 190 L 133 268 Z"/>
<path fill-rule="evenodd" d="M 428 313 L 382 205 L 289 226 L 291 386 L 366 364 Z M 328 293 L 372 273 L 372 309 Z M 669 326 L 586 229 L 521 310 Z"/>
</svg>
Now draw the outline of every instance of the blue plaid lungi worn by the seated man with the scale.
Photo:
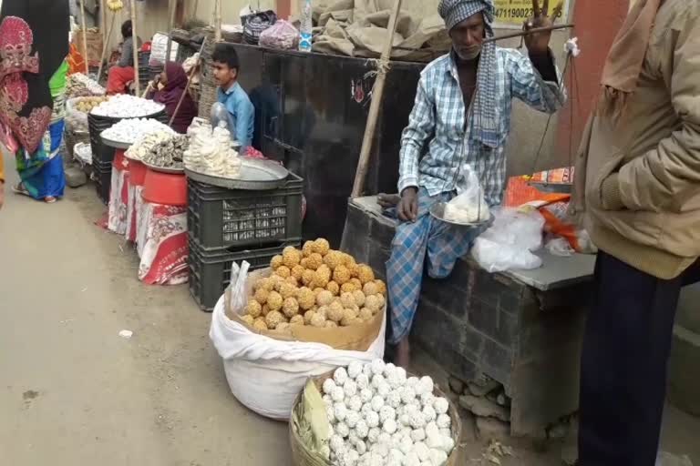
<svg viewBox="0 0 700 466">
<path fill-rule="evenodd" d="M 479 230 L 454 227 L 430 215 L 429 210 L 435 203 L 448 202 L 454 197 L 455 193 L 431 197 L 421 187 L 418 191 L 417 220 L 396 227 L 391 257 L 386 262 L 391 304 L 391 344 L 398 343 L 411 331 L 424 270 L 433 279 L 447 278 L 457 260 L 469 252 L 479 236 Z"/>
</svg>

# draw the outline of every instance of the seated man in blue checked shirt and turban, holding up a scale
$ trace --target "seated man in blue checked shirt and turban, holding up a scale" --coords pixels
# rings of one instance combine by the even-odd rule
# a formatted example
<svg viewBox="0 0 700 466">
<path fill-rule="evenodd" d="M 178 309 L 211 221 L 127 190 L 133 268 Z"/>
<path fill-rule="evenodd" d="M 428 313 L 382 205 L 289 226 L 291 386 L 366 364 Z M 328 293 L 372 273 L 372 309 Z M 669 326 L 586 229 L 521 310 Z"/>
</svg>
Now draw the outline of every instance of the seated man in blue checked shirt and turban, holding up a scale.
<svg viewBox="0 0 700 466">
<path fill-rule="evenodd" d="M 561 6 L 548 18 L 548 4 L 545 0 L 541 11 L 535 9 L 526 28 L 552 24 Z M 455 197 L 465 164 L 479 176 L 489 207 L 498 206 L 506 181 L 504 147 L 512 99 L 547 113 L 561 108 L 565 100 L 549 48 L 551 33 L 526 35 L 530 56 L 525 57 L 493 42 L 483 43 L 493 35 L 492 0 L 441 0 L 438 10 L 453 47 L 425 68 L 418 83 L 401 142 L 397 213 L 403 223 L 396 228 L 386 263 L 390 342 L 398 345 L 396 364 L 403 367 L 409 363 L 408 333 L 426 257 L 428 275 L 445 278 L 475 239 L 471 230 L 450 228 L 431 218 L 430 206 Z"/>
</svg>

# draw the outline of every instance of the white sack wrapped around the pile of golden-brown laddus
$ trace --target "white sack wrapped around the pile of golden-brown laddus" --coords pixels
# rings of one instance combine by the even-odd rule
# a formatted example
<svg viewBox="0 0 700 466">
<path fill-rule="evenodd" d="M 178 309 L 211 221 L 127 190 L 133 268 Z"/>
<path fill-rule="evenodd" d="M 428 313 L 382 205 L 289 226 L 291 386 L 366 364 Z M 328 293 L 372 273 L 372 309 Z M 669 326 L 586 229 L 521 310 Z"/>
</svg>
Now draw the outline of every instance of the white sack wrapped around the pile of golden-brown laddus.
<svg viewBox="0 0 700 466">
<path fill-rule="evenodd" d="M 245 306 L 247 263 L 232 266 L 230 302 Z M 239 308 L 240 307 L 240 308 Z M 386 315 L 376 340 L 365 352 L 333 349 L 321 343 L 282 341 L 253 333 L 225 313 L 224 297 L 214 308 L 209 336 L 223 359 L 229 387 L 239 401 L 258 414 L 289 420 L 293 402 L 309 377 L 323 375 L 352 361 L 384 357 Z"/>
</svg>

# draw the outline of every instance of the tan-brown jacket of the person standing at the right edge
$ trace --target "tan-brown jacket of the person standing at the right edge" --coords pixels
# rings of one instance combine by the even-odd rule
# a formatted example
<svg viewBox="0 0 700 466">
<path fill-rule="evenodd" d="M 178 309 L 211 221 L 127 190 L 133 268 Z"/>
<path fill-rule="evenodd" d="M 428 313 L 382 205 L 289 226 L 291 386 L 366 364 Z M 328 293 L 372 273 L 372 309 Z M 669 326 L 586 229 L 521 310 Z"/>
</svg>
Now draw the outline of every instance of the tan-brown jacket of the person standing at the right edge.
<svg viewBox="0 0 700 466">
<path fill-rule="evenodd" d="M 623 119 L 589 121 L 572 209 L 599 248 L 660 279 L 700 257 L 699 1 L 664 2 Z"/>
</svg>

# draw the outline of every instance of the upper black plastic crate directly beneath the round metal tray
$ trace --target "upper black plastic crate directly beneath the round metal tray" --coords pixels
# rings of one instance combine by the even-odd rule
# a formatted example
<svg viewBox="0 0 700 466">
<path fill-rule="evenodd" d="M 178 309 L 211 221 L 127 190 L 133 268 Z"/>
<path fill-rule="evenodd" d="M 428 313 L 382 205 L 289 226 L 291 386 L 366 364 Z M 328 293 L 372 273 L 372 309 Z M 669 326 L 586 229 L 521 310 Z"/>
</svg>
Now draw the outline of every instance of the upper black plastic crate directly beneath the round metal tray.
<svg viewBox="0 0 700 466">
<path fill-rule="evenodd" d="M 261 248 L 302 239 L 304 180 L 293 173 L 283 187 L 246 191 L 188 180 L 187 226 L 201 248 Z"/>
</svg>

